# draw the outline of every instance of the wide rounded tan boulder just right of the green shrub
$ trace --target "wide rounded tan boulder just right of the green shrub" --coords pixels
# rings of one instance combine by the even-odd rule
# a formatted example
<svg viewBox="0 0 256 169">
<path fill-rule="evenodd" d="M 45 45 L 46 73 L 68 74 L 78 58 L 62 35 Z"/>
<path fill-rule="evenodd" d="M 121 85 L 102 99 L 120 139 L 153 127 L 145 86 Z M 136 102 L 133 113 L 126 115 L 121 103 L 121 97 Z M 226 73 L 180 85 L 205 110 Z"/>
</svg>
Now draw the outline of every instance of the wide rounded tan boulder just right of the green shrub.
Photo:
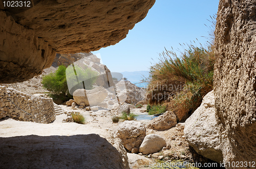
<svg viewBox="0 0 256 169">
<path fill-rule="evenodd" d="M 77 89 L 73 93 L 76 104 L 81 105 L 81 103 L 85 103 L 86 106 L 96 106 L 101 103 L 106 96 L 108 96 L 108 92 L 101 86 L 92 90 Z"/>
</svg>

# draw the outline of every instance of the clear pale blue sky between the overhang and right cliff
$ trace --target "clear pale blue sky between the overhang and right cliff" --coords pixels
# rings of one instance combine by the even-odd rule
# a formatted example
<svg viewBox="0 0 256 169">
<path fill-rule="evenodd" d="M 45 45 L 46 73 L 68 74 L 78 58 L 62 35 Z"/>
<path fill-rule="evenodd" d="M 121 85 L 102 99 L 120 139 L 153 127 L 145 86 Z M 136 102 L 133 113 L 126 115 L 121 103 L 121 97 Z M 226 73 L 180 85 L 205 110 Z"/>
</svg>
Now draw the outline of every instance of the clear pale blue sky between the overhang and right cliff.
<svg viewBox="0 0 256 169">
<path fill-rule="evenodd" d="M 190 44 L 197 39 L 206 44 L 209 29 L 204 24 L 211 25 L 208 20 L 217 14 L 218 5 L 218 0 L 156 0 L 125 39 L 93 53 L 100 53 L 103 64 L 112 72 L 149 70 L 164 47 L 182 49 L 179 43 Z"/>
</svg>

